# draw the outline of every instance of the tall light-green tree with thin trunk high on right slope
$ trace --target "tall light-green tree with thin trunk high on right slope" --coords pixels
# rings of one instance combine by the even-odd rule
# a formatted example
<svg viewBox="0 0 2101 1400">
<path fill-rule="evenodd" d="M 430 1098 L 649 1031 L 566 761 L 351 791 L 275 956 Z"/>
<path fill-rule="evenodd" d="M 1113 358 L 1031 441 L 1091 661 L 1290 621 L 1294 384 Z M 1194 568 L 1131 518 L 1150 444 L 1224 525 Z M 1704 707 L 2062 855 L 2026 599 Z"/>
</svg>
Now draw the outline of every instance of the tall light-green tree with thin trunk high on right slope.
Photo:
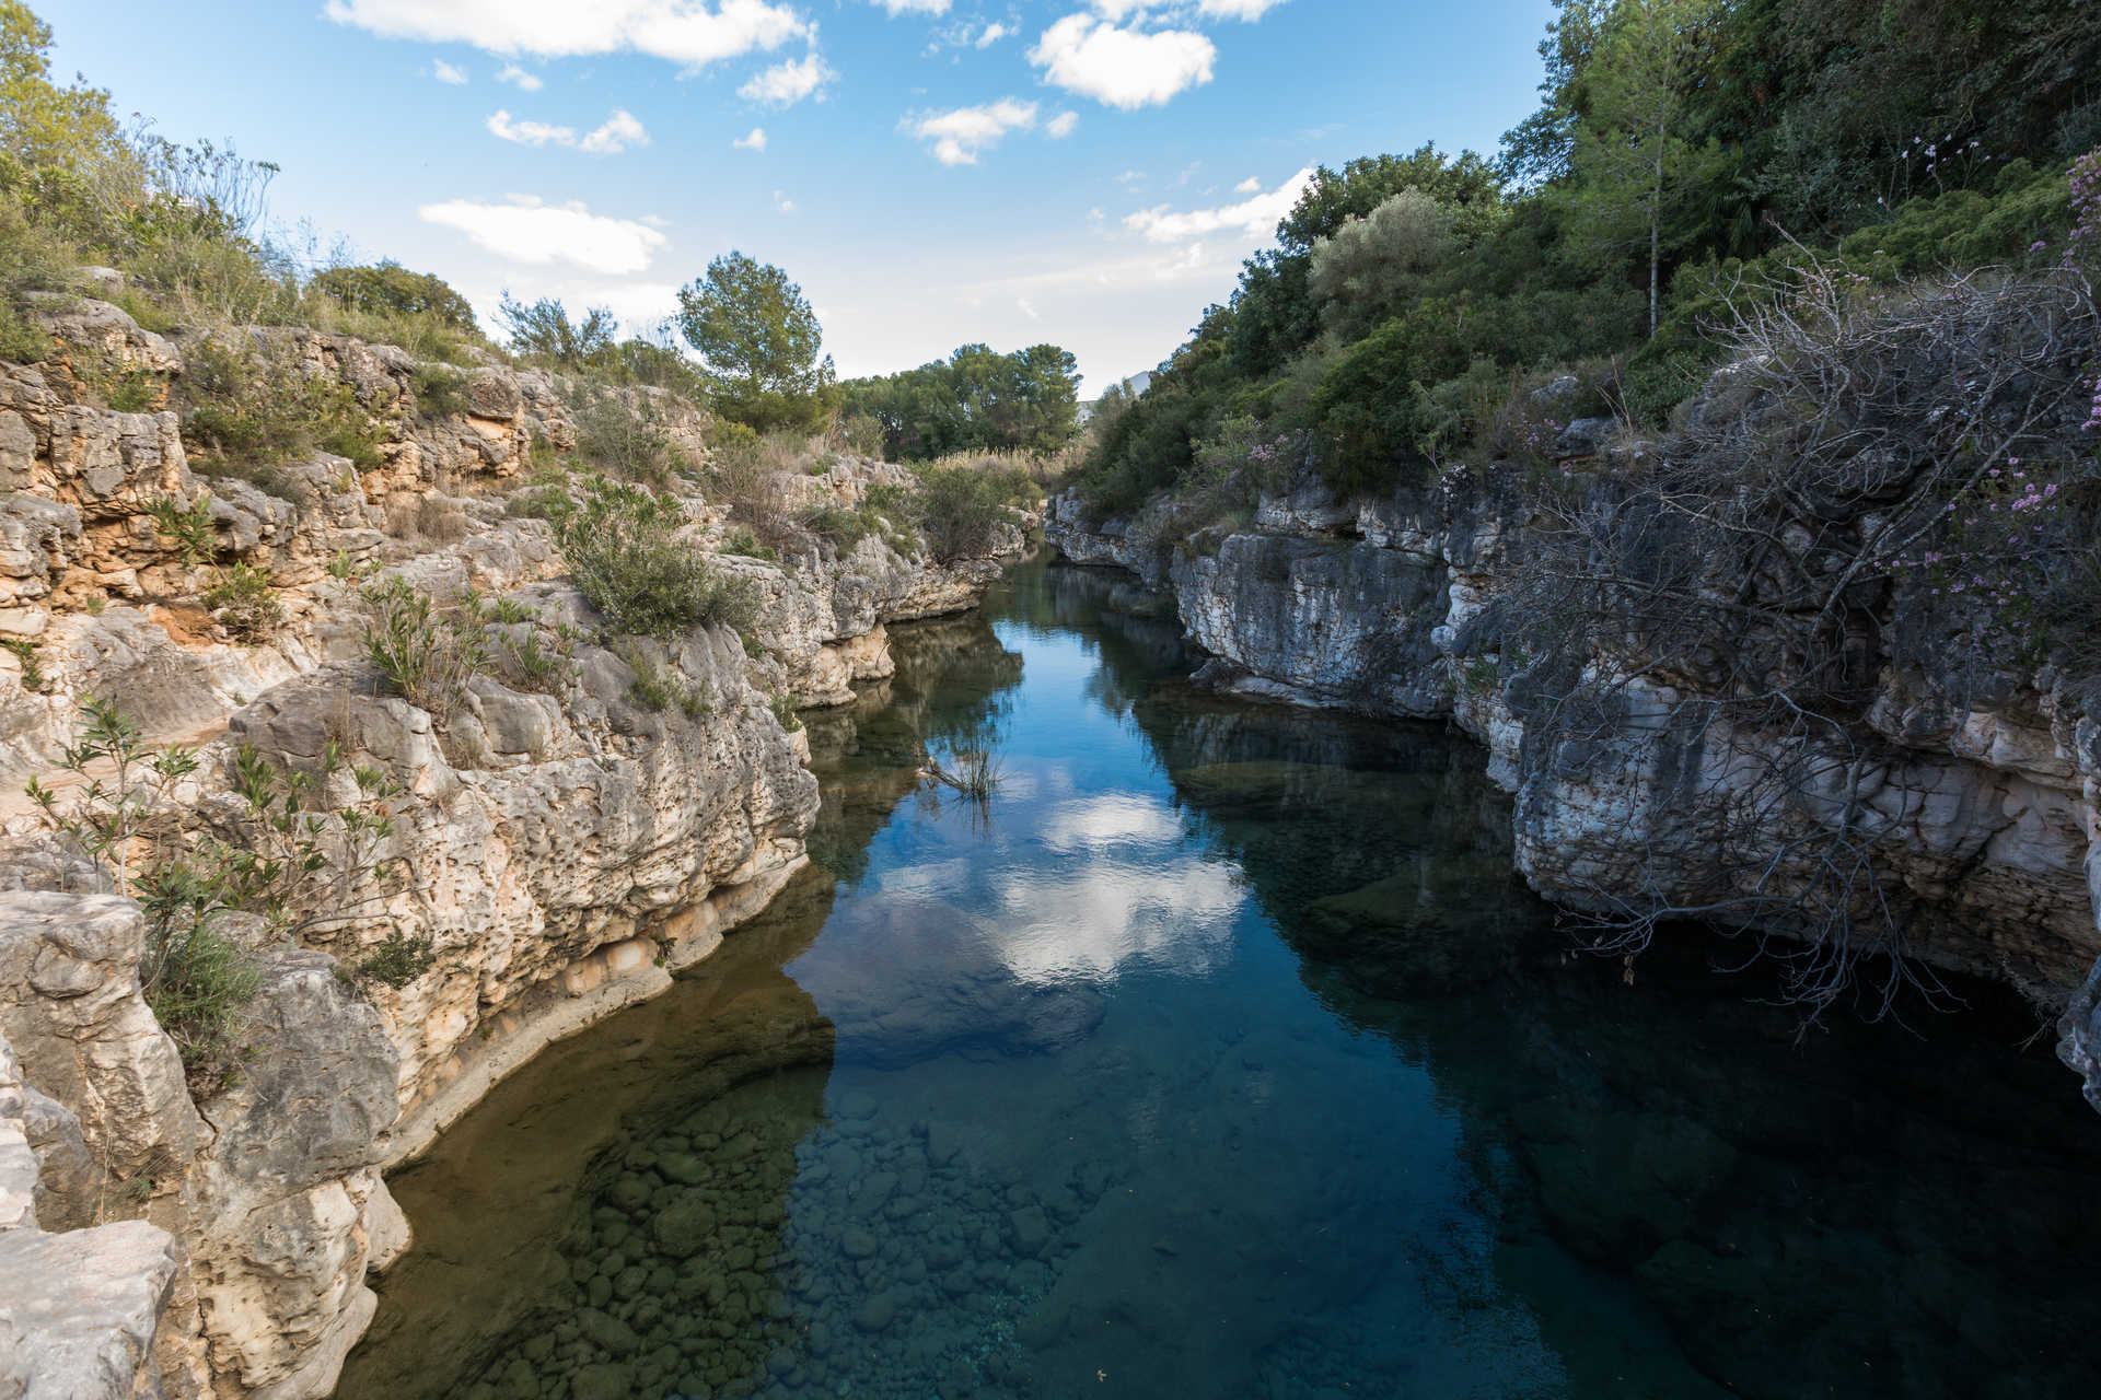
<svg viewBox="0 0 2101 1400">
<path fill-rule="evenodd" d="M 1687 136 L 1689 94 L 1708 65 L 1714 0 L 1622 0 L 1584 71 L 1588 109 L 1576 122 L 1574 174 L 1561 197 L 1569 233 L 1597 250 L 1647 235 L 1649 336 L 1662 296 L 1664 222 L 1679 191 L 1721 162 Z"/>
</svg>

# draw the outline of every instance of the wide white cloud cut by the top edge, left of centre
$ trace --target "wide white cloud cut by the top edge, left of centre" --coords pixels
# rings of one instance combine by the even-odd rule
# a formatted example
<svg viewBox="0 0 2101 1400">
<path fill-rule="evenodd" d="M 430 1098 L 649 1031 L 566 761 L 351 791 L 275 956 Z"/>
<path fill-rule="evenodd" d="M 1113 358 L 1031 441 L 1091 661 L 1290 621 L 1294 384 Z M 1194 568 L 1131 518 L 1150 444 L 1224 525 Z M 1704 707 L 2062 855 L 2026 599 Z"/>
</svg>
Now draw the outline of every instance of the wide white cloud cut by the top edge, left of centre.
<svg viewBox="0 0 2101 1400">
<path fill-rule="evenodd" d="M 773 0 L 328 0 L 324 13 L 380 38 L 542 59 L 632 50 L 687 69 L 815 31 Z"/>
</svg>

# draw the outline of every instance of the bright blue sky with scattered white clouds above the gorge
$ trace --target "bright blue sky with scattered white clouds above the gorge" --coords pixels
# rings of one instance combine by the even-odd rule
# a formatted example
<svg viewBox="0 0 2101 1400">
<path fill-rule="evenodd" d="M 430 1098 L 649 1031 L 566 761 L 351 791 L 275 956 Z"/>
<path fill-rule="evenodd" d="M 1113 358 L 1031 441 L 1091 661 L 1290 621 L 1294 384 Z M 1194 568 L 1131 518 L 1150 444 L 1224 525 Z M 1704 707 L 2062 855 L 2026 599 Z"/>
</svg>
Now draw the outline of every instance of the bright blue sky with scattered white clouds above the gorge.
<svg viewBox="0 0 2101 1400">
<path fill-rule="evenodd" d="M 1492 151 L 1548 0 L 32 0 L 55 65 L 284 166 L 271 216 L 668 315 L 777 262 L 840 374 L 983 340 L 1147 369 L 1315 164 Z M 758 136 L 763 132 L 763 139 Z"/>
</svg>

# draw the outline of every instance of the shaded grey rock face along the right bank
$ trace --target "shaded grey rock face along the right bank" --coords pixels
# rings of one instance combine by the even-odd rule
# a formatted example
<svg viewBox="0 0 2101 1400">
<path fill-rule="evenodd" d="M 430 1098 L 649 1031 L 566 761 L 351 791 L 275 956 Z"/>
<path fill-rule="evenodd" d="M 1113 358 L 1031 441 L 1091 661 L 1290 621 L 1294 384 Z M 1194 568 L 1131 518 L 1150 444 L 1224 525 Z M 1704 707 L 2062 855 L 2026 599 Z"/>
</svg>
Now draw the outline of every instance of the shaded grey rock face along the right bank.
<svg viewBox="0 0 2101 1400">
<path fill-rule="evenodd" d="M 1651 682 L 1618 693 L 1624 714 L 1605 739 L 1527 739 L 1513 703 L 1513 684 L 1527 680 L 1481 625 L 1525 546 L 1521 495 L 1494 472 L 1353 512 L 1307 493 L 1265 500 L 1256 529 L 1223 542 L 1177 539 L 1166 518 L 1095 523 L 1067 495 L 1050 506 L 1046 539 L 1172 594 L 1183 628 L 1214 657 L 1200 682 L 1448 718 L 1475 735 L 1515 793 L 1517 863 L 1542 894 L 1601 913 L 1628 890 L 1712 896 L 1717 793 L 1742 791 L 1752 781 L 1742 756 L 1784 739 L 1729 733 L 1727 720 L 1674 724 L 1685 693 Z M 1931 674 L 1885 674 L 1851 737 L 1874 762 L 1822 798 L 1882 814 L 1874 852 L 1910 900 L 1916 955 L 2069 1005 L 2063 1058 L 2101 1108 L 2095 726 L 2046 691 L 1950 703 L 1958 693 Z M 1767 812 L 1761 840 L 1777 852 L 1813 816 Z"/>
</svg>

